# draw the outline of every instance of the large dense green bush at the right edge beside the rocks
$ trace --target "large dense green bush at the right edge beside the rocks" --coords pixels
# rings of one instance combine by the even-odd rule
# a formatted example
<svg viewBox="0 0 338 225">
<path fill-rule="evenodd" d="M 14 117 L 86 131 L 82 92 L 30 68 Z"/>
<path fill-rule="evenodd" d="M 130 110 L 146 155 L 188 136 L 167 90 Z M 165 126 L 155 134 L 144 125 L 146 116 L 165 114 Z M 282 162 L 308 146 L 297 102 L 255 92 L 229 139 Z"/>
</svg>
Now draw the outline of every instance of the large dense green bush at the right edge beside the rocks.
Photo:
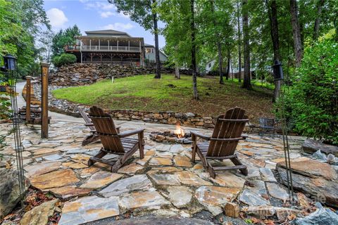
<svg viewBox="0 0 338 225">
<path fill-rule="evenodd" d="M 286 93 L 295 131 L 338 145 L 337 42 L 323 39 L 304 52 L 294 86 Z"/>
</svg>

